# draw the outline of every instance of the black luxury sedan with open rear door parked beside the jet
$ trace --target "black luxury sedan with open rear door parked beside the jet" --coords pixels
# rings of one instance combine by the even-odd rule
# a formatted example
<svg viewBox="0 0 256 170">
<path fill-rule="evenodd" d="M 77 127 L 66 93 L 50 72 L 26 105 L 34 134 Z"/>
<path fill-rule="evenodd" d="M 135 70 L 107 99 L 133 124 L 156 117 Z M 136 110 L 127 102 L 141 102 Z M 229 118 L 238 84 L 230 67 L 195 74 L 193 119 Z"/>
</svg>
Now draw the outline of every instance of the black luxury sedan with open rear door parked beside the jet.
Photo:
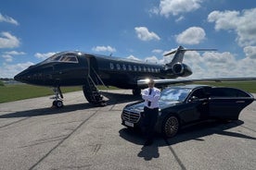
<svg viewBox="0 0 256 170">
<path fill-rule="evenodd" d="M 246 91 L 207 85 L 172 86 L 161 91 L 156 132 L 173 137 L 179 128 L 206 119 L 237 120 L 254 97 Z M 122 125 L 144 128 L 144 102 L 126 105 Z"/>
</svg>

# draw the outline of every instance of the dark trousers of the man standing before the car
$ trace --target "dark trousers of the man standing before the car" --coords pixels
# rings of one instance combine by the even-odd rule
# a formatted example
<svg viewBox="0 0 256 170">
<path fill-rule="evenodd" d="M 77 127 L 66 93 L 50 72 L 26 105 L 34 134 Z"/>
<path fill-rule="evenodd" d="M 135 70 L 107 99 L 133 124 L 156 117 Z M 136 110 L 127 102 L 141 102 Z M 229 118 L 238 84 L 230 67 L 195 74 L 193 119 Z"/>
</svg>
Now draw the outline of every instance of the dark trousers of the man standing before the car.
<svg viewBox="0 0 256 170">
<path fill-rule="evenodd" d="M 159 116 L 159 108 L 149 109 L 144 107 L 145 119 L 144 119 L 144 132 L 147 140 L 153 140 L 155 126 Z"/>
</svg>

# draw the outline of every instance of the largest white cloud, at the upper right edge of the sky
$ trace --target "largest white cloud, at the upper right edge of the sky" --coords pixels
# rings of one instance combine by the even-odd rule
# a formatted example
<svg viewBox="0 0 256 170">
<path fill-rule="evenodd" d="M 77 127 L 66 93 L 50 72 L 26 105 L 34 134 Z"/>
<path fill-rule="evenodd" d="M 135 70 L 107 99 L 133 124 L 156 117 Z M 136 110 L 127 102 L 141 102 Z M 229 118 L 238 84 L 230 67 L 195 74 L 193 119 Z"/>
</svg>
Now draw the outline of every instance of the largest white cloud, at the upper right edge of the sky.
<svg viewBox="0 0 256 170">
<path fill-rule="evenodd" d="M 212 11 L 209 22 L 215 22 L 215 30 L 234 30 L 240 46 L 256 44 L 256 8 L 239 11 Z"/>
</svg>

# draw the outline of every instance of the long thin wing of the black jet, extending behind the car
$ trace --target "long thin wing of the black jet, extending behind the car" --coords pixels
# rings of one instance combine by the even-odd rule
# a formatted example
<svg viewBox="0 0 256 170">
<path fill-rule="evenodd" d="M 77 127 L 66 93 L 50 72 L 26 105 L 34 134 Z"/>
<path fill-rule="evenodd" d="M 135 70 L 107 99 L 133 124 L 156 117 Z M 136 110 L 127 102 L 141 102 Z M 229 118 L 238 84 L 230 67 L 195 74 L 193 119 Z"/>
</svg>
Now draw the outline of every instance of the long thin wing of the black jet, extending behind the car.
<svg viewBox="0 0 256 170">
<path fill-rule="evenodd" d="M 149 79 L 139 79 L 137 80 L 137 85 L 139 87 L 147 87 Z M 211 79 L 154 79 L 156 87 L 164 87 L 171 84 L 179 83 L 192 83 L 192 82 L 222 82 L 222 81 L 249 81 L 256 80 L 256 77 L 252 78 L 211 78 Z"/>
</svg>

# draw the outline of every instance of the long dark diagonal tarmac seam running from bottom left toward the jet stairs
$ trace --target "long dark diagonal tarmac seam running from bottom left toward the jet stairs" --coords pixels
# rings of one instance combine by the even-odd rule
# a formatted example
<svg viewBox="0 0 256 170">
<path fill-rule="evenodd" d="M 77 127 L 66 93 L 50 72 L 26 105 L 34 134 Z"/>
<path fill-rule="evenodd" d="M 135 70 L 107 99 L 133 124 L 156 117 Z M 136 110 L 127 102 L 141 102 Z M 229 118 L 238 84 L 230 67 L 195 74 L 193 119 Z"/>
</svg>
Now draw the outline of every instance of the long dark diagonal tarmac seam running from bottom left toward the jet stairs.
<svg viewBox="0 0 256 170">
<path fill-rule="evenodd" d="M 75 128 L 69 135 L 67 135 L 67 137 L 63 138 L 63 140 L 60 140 L 60 141 L 58 142 L 58 144 L 57 144 L 53 149 L 51 149 L 49 152 L 47 152 L 47 153 L 45 154 L 45 156 L 43 156 L 36 164 L 33 164 L 32 167 L 30 168 L 30 170 L 32 170 L 35 166 L 37 166 L 37 165 L 40 164 L 42 161 L 44 161 L 45 158 L 46 158 L 51 152 L 55 151 L 55 150 L 58 148 L 59 145 L 61 145 L 65 140 L 69 139 L 70 136 L 71 136 L 78 128 L 81 128 L 85 122 L 87 122 L 90 118 L 92 118 L 92 117 L 93 117 L 94 115 L 96 115 L 97 113 L 98 113 L 98 110 L 96 110 L 96 112 L 95 112 L 94 114 L 90 115 L 88 118 L 86 118 L 85 120 L 83 120 L 83 122 L 82 122 L 77 128 Z"/>
</svg>

